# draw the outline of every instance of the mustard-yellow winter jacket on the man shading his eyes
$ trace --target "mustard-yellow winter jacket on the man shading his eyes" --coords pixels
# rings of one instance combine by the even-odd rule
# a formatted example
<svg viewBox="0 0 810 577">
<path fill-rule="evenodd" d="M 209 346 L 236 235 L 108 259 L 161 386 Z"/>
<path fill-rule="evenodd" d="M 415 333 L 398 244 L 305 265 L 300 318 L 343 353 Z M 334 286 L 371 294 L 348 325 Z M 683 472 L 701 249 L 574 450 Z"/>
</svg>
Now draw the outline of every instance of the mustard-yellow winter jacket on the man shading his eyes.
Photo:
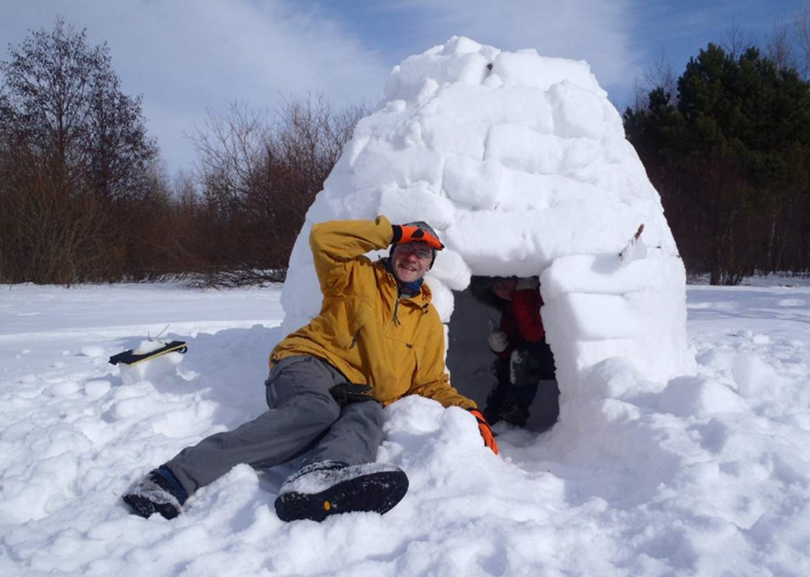
<svg viewBox="0 0 810 577">
<path fill-rule="evenodd" d="M 279 342 L 271 363 L 312 354 L 349 382 L 370 384 L 383 405 L 416 394 L 445 407 L 475 408 L 475 402 L 450 386 L 444 325 L 430 305 L 427 284 L 418 295 L 400 297 L 385 261 L 364 256 L 388 247 L 393 237 L 384 216 L 313 226 L 309 245 L 323 294 L 321 312 Z"/>
</svg>

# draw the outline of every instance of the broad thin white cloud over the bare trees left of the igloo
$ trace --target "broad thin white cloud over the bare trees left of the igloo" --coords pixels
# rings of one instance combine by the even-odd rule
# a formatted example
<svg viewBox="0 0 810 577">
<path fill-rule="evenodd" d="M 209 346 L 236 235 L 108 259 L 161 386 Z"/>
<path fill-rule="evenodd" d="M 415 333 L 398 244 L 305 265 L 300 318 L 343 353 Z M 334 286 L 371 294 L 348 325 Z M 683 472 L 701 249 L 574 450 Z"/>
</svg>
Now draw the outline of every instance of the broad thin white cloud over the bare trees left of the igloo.
<svg viewBox="0 0 810 577">
<path fill-rule="evenodd" d="M 86 28 L 90 44 L 109 44 L 124 91 L 143 94 L 147 127 L 172 172 L 189 168 L 193 152 L 182 133 L 206 110 L 234 100 L 275 108 L 281 96 L 310 90 L 338 106 L 376 101 L 393 66 L 351 30 L 282 0 L 20 2 L 0 24 L 0 41 L 17 46 L 28 29 L 52 29 L 57 15 Z"/>
</svg>

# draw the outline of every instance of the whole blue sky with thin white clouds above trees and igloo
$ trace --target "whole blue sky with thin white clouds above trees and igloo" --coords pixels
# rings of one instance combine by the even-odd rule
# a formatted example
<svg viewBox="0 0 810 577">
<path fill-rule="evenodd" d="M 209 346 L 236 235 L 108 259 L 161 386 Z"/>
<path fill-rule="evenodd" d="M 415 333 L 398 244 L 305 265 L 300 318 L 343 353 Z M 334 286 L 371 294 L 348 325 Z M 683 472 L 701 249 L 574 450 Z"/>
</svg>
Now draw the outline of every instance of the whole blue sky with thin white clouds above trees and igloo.
<svg viewBox="0 0 810 577">
<path fill-rule="evenodd" d="M 0 46 L 62 15 L 106 41 L 128 94 L 143 95 L 147 128 L 168 172 L 191 168 L 188 138 L 207 111 L 240 102 L 278 108 L 323 92 L 336 106 L 376 104 L 391 68 L 468 36 L 504 50 L 585 60 L 616 107 L 662 53 L 680 75 L 735 25 L 765 44 L 810 0 L 0 0 Z"/>
</svg>

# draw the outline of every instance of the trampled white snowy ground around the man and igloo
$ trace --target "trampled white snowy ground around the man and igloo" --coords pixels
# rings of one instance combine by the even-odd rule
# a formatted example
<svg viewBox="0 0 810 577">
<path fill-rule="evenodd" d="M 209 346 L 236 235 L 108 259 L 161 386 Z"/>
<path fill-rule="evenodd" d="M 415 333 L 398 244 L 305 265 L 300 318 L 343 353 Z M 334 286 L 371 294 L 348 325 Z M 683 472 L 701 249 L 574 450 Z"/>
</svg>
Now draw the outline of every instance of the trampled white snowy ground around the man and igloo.
<svg viewBox="0 0 810 577">
<path fill-rule="evenodd" d="M 399 401 L 379 459 L 410 492 L 322 524 L 275 516 L 296 464 L 237 467 L 173 521 L 119 499 L 262 411 L 279 286 L 0 287 L 0 573 L 810 575 L 810 283 L 755 284 L 689 286 L 697 376 L 650 393 L 608 360 L 552 431 L 497 426 L 500 457 L 463 410 Z M 109 356 L 166 325 L 177 371 L 126 384 Z"/>
</svg>

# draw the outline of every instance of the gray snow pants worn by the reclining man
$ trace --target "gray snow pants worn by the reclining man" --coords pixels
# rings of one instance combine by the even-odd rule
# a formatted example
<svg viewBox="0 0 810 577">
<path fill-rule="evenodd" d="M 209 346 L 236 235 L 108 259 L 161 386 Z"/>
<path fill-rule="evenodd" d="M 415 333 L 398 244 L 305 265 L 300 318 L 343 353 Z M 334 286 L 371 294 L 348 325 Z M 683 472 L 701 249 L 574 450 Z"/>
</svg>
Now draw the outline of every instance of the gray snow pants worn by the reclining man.
<svg viewBox="0 0 810 577">
<path fill-rule="evenodd" d="M 233 431 L 216 433 L 166 463 L 189 495 L 235 465 L 279 465 L 313 449 L 309 461 L 373 463 L 382 443 L 382 405 L 339 405 L 329 389 L 347 383 L 329 363 L 310 355 L 287 357 L 265 381 L 270 410 Z"/>
</svg>

